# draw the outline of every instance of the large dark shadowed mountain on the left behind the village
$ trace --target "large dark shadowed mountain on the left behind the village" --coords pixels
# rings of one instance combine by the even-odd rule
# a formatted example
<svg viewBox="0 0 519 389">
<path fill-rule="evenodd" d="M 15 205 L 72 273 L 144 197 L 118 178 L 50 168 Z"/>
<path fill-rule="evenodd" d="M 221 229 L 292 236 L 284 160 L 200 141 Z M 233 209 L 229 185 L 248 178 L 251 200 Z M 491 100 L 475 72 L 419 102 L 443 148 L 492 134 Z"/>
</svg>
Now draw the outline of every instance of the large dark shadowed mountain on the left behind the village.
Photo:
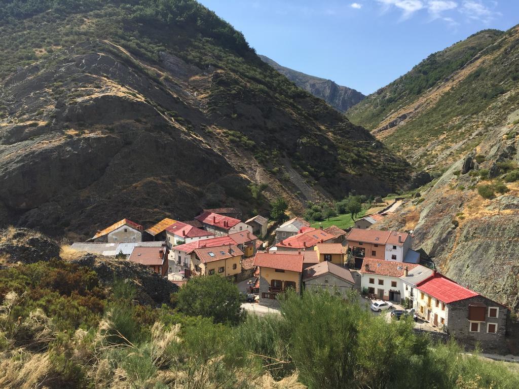
<svg viewBox="0 0 519 389">
<path fill-rule="evenodd" d="M 0 7 L 0 225 L 76 239 L 424 178 L 194 1 Z"/>
</svg>

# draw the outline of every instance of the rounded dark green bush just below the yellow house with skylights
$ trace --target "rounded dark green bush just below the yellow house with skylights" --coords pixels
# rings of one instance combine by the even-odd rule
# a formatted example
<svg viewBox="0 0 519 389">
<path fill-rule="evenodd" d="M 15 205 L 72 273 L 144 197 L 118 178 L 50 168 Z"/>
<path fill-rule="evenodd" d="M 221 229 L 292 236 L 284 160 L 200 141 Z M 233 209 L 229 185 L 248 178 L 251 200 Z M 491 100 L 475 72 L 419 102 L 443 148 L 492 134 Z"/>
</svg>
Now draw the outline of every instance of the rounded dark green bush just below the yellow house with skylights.
<svg viewBox="0 0 519 389">
<path fill-rule="evenodd" d="M 177 294 L 177 301 L 181 312 L 211 317 L 214 323 L 237 324 L 244 315 L 236 285 L 216 274 L 190 279 Z"/>
</svg>

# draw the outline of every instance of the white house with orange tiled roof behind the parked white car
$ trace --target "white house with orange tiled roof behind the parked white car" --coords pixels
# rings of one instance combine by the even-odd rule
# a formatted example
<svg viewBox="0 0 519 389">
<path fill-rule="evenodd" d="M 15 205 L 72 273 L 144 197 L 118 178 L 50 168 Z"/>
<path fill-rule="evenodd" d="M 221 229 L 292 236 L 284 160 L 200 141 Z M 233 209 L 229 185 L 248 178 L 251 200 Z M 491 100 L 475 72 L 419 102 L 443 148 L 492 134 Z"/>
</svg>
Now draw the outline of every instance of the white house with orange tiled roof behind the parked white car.
<svg viewBox="0 0 519 389">
<path fill-rule="evenodd" d="M 414 263 L 366 258 L 360 269 L 361 291 L 374 294 L 380 300 L 401 303 L 405 296 L 405 286 L 401 276 L 405 274 L 406 268 L 411 270 L 416 266 L 418 265 Z"/>
</svg>

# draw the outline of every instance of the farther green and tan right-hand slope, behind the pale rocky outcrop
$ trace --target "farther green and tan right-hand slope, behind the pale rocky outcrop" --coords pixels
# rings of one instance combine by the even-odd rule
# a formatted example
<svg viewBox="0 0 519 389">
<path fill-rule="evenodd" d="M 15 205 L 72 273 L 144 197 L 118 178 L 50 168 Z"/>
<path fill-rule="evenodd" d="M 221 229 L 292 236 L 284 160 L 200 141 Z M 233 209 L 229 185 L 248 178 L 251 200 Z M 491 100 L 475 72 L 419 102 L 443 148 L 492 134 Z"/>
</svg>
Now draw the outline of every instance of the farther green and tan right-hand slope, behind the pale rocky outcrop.
<svg viewBox="0 0 519 389">
<path fill-rule="evenodd" d="M 415 166 L 444 170 L 515 109 L 518 41 L 517 26 L 474 34 L 431 54 L 347 116 Z"/>
</svg>

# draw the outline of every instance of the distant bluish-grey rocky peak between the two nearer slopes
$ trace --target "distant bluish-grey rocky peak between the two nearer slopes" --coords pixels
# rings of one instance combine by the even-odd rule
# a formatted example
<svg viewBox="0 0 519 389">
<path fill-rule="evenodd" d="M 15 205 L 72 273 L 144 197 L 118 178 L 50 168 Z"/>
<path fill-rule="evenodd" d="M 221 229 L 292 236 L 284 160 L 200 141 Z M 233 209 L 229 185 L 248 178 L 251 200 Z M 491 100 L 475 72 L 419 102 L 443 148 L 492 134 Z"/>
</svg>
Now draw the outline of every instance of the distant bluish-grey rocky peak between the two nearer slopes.
<svg viewBox="0 0 519 389">
<path fill-rule="evenodd" d="M 323 99 L 339 112 L 346 112 L 348 108 L 359 103 L 366 97 L 361 92 L 343 87 L 342 85 L 337 85 L 332 80 L 310 76 L 289 67 L 281 66 L 276 61 L 265 57 L 265 55 L 260 55 L 260 58 L 274 67 L 279 73 L 286 76 L 286 78 L 293 81 L 299 88 L 303 88 L 319 99 Z"/>
</svg>

